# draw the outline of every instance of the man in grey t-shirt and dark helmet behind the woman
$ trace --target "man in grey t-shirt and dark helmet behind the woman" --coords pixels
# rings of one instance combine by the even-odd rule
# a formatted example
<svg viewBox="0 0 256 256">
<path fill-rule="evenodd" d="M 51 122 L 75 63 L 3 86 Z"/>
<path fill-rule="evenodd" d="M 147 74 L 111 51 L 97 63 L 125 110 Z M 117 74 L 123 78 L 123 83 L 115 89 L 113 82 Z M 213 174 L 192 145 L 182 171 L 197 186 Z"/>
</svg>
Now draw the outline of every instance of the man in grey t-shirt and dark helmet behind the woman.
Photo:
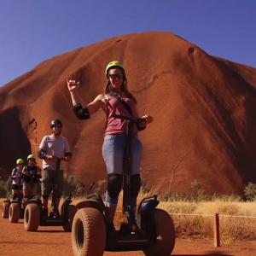
<svg viewBox="0 0 256 256">
<path fill-rule="evenodd" d="M 58 206 L 63 191 L 63 165 L 62 160 L 69 160 L 72 156 L 67 138 L 61 136 L 62 122 L 53 119 L 49 127 L 51 135 L 44 136 L 38 148 L 38 157 L 43 159 L 42 171 L 42 195 L 43 212 L 48 214 L 48 198 L 52 192 L 52 217 L 59 217 Z"/>
</svg>

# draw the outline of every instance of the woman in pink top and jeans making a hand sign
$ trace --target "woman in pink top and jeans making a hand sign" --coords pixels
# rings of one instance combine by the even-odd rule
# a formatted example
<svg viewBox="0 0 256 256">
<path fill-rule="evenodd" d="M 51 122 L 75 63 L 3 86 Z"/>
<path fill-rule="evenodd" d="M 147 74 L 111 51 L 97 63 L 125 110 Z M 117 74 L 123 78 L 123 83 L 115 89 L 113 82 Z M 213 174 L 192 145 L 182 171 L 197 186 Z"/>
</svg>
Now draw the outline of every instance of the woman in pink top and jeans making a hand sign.
<svg viewBox="0 0 256 256">
<path fill-rule="evenodd" d="M 79 119 L 89 119 L 100 108 L 106 113 L 107 123 L 104 131 L 102 154 L 108 171 L 108 189 L 106 195 L 106 212 L 108 227 L 113 229 L 113 217 L 118 203 L 119 192 L 122 189 L 123 160 L 126 144 L 125 119 L 115 119 L 114 114 L 138 117 L 137 101 L 127 89 L 125 68 L 119 61 L 111 61 L 105 70 L 107 85 L 105 92 L 96 96 L 85 108 L 77 102 L 75 92 L 79 82 L 67 79 L 67 88 L 73 102 L 73 110 Z M 141 187 L 140 165 L 142 156 L 142 143 L 137 137 L 137 131 L 145 129 L 153 121 L 150 115 L 144 115 L 144 122 L 133 129 L 131 140 L 131 192 L 130 207 L 135 212 L 137 195 Z"/>
</svg>

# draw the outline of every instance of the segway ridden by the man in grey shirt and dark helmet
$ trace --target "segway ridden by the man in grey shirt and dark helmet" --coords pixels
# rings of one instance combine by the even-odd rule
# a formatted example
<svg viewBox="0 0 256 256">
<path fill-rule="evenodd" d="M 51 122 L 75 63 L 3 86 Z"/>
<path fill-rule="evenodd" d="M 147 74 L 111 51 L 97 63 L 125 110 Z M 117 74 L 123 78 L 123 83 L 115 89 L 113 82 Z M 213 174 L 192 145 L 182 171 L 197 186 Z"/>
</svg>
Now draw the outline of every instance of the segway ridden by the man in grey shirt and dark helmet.
<svg viewBox="0 0 256 256">
<path fill-rule="evenodd" d="M 56 172 L 60 171 L 61 160 L 56 160 Z M 55 182 L 53 183 L 55 185 Z M 53 204 L 55 207 L 55 197 L 53 195 Z M 73 216 L 76 208 L 71 205 L 72 196 L 69 195 L 61 205 L 61 214 L 45 214 L 43 211 L 43 203 L 40 196 L 35 196 L 27 202 L 24 212 L 24 228 L 26 231 L 36 231 L 38 226 L 62 226 L 63 230 L 70 232 L 72 228 Z"/>
</svg>

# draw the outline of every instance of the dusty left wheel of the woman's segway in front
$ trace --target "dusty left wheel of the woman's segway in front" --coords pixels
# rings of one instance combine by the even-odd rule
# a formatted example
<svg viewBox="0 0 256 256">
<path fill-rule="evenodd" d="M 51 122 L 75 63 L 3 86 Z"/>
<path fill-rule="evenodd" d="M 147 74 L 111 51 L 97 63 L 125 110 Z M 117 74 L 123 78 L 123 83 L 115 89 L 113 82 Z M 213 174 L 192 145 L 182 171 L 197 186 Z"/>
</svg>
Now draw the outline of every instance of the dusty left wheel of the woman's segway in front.
<svg viewBox="0 0 256 256">
<path fill-rule="evenodd" d="M 106 245 L 106 226 L 102 212 L 96 208 L 79 209 L 73 218 L 74 256 L 102 256 Z"/>
</svg>

